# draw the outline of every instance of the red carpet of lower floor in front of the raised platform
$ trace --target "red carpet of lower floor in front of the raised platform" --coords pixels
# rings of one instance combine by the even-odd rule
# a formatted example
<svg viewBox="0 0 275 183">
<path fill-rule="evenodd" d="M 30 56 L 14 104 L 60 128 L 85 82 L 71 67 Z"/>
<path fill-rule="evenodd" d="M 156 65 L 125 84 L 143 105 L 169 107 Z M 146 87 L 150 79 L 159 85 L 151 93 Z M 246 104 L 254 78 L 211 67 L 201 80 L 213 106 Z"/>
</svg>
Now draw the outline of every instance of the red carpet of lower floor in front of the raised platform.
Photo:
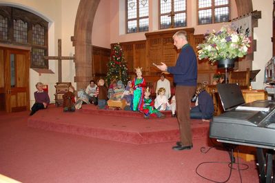
<svg viewBox="0 0 275 183">
<path fill-rule="evenodd" d="M 61 114 L 50 113 L 52 117 Z M 210 182 L 196 174 L 202 162 L 216 162 L 198 168 L 211 180 L 223 182 L 230 175 L 230 168 L 223 163 L 229 162 L 224 149 L 201 153 L 202 146 L 211 145 L 207 138 L 194 139 L 190 151 L 173 151 L 175 142 L 134 145 L 29 128 L 28 118 L 28 112 L 0 113 L 0 173 L 24 183 Z M 258 182 L 255 162 L 240 162 L 249 166 L 241 171 L 243 183 Z M 241 178 L 233 169 L 227 183 L 241 182 Z"/>
</svg>

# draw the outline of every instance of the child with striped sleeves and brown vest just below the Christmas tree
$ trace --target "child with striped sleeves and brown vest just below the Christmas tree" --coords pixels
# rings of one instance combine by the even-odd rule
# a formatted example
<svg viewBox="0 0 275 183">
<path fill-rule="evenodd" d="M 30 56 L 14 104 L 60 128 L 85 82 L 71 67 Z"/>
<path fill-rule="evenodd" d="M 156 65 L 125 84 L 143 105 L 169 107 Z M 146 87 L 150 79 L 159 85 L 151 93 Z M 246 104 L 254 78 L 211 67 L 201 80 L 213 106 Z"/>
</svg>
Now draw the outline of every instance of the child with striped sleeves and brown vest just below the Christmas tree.
<svg viewBox="0 0 275 183">
<path fill-rule="evenodd" d="M 106 106 L 108 100 L 108 89 L 104 86 L 104 80 L 99 79 L 98 86 L 96 88 L 96 94 L 94 97 L 97 97 L 99 102 L 99 109 L 103 109 Z"/>
</svg>

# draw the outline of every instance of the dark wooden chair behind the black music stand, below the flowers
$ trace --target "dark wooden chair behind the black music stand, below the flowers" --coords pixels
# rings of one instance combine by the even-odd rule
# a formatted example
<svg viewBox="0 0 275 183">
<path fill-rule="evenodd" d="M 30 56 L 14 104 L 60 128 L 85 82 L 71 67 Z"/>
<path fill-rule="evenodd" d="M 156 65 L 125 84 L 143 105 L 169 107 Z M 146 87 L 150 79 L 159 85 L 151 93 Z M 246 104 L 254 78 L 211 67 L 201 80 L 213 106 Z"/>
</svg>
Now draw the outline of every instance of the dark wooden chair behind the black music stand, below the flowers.
<svg viewBox="0 0 275 183">
<path fill-rule="evenodd" d="M 229 83 L 238 84 L 238 86 L 240 86 L 241 89 L 248 89 L 250 86 L 249 74 L 249 68 L 247 68 L 247 70 L 245 71 L 230 71 Z"/>
</svg>

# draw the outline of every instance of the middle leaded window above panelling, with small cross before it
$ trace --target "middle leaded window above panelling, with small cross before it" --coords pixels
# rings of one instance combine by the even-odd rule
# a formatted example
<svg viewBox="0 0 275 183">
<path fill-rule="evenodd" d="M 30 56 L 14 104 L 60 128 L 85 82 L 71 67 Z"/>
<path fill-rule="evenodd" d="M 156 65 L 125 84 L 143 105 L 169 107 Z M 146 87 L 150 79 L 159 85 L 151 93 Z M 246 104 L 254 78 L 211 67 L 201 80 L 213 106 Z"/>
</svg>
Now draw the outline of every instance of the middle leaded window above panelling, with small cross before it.
<svg viewBox="0 0 275 183">
<path fill-rule="evenodd" d="M 186 0 L 159 0 L 159 28 L 186 26 Z"/>
</svg>

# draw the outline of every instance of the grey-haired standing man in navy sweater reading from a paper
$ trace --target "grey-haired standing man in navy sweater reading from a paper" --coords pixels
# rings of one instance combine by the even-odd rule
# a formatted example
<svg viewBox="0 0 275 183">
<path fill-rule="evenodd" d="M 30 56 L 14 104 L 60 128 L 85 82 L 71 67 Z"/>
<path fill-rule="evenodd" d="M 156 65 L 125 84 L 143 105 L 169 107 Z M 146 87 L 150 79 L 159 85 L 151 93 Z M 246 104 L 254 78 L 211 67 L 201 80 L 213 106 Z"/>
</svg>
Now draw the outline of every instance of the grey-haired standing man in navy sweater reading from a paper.
<svg viewBox="0 0 275 183">
<path fill-rule="evenodd" d="M 167 71 L 174 75 L 174 83 L 176 84 L 176 117 L 179 123 L 179 131 L 181 141 L 176 142 L 174 150 L 191 149 L 192 131 L 190 126 L 190 102 L 196 91 L 196 79 L 198 66 L 196 63 L 196 54 L 193 48 L 188 44 L 187 33 L 178 31 L 173 36 L 174 46 L 178 50 L 181 49 L 176 66 L 167 67 L 162 63 L 156 67 L 161 71 Z"/>
</svg>

